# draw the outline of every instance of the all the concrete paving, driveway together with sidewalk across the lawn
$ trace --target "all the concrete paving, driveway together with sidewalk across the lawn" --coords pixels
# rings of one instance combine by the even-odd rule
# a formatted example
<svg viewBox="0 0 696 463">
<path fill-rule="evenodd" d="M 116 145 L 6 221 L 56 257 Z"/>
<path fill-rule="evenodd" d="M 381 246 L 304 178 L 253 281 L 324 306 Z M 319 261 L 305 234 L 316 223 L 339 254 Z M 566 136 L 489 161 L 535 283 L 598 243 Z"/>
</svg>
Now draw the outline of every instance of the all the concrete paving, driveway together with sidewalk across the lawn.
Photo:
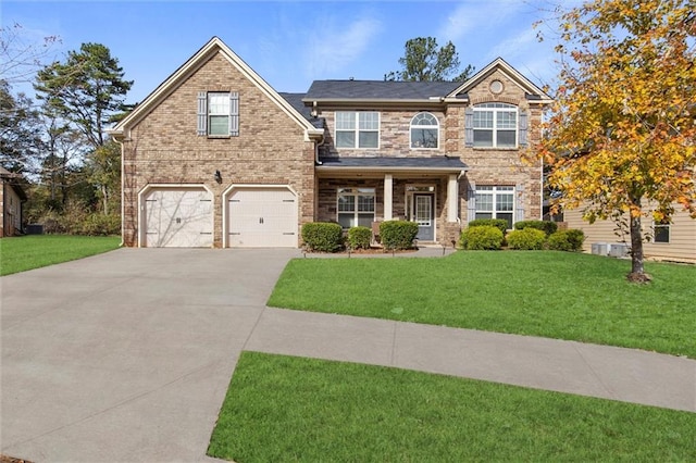
<svg viewBox="0 0 696 463">
<path fill-rule="evenodd" d="M 34 462 L 213 461 L 206 449 L 245 349 L 696 412 L 695 360 L 265 308 L 297 256 L 304 255 L 121 249 L 0 278 L 0 453 Z"/>
</svg>

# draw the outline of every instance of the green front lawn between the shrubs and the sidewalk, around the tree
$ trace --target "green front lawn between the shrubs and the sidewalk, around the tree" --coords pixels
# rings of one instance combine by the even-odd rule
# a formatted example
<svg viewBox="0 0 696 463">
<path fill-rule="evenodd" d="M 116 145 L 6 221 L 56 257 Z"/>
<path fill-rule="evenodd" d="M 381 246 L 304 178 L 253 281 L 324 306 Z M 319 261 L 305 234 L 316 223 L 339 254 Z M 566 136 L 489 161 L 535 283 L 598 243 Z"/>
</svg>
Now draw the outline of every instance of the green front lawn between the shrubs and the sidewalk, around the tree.
<svg viewBox="0 0 696 463">
<path fill-rule="evenodd" d="M 696 358 L 696 266 L 554 251 L 297 259 L 269 305 L 542 336 Z"/>
</svg>

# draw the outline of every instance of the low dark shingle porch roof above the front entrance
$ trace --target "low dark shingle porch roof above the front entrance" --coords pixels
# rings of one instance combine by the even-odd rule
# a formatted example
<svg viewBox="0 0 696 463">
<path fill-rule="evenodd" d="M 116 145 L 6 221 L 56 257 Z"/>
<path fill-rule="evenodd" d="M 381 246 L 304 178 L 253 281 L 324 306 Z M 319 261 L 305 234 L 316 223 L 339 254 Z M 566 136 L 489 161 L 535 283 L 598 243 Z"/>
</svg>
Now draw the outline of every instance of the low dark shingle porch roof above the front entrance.
<svg viewBox="0 0 696 463">
<path fill-rule="evenodd" d="M 445 171 L 465 171 L 469 168 L 467 164 L 461 162 L 459 158 L 449 158 L 445 155 L 432 158 L 386 158 L 386 157 L 365 157 L 365 158 L 323 158 L 321 159 L 324 167 L 345 167 L 345 168 L 414 168 L 414 170 L 445 170 Z"/>
</svg>

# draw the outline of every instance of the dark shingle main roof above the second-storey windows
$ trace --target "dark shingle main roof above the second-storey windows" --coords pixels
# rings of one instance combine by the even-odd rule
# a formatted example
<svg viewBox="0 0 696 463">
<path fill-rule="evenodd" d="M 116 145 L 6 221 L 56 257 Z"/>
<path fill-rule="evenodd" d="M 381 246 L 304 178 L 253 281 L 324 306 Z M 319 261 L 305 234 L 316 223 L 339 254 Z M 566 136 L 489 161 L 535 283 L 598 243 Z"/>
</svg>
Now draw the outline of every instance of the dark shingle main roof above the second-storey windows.
<svg viewBox="0 0 696 463">
<path fill-rule="evenodd" d="M 446 97 L 460 82 L 314 80 L 304 100 L 427 100 Z"/>
</svg>

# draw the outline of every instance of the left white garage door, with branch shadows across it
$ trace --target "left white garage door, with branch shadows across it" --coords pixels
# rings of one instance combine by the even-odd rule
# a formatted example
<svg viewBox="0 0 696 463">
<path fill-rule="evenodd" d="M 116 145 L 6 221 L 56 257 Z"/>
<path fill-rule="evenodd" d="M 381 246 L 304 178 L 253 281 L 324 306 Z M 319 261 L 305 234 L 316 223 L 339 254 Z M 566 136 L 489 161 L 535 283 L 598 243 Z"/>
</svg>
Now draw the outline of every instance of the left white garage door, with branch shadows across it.
<svg viewBox="0 0 696 463">
<path fill-rule="evenodd" d="M 213 243 L 213 201 L 203 188 L 157 188 L 145 197 L 148 248 L 207 248 Z"/>
</svg>

